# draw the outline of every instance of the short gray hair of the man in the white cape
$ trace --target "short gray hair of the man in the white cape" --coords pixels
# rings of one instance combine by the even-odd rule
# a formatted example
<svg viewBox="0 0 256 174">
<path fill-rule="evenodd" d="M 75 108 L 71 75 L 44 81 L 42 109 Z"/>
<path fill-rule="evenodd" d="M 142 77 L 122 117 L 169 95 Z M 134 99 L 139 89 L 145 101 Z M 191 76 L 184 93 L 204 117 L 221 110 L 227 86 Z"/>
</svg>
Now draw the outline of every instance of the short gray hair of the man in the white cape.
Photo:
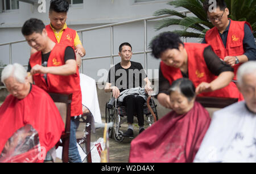
<svg viewBox="0 0 256 174">
<path fill-rule="evenodd" d="M 256 73 L 256 61 L 248 61 L 243 63 L 237 71 L 237 82 L 242 84 L 242 78 L 245 74 Z"/>
</svg>

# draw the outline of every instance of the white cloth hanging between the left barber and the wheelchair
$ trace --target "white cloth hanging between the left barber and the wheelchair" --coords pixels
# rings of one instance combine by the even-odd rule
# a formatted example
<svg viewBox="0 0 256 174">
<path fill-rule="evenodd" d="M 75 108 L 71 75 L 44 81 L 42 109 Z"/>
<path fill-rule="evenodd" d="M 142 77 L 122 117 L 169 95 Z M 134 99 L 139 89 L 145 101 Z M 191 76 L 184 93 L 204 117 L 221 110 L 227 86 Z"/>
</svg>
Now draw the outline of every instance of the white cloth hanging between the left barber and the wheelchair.
<svg viewBox="0 0 256 174">
<path fill-rule="evenodd" d="M 98 95 L 96 82 L 93 78 L 80 73 L 80 86 L 82 92 L 82 105 L 92 113 L 94 122 L 101 123 L 100 105 L 98 104 Z"/>
</svg>

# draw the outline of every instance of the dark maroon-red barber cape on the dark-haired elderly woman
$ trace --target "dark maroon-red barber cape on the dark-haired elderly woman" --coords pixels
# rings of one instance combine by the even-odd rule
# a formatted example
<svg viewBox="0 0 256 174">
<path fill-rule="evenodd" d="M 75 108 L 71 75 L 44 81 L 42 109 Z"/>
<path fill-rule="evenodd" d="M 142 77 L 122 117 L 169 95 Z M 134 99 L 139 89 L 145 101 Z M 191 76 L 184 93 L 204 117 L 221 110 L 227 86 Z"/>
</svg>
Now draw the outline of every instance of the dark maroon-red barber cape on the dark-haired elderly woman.
<svg viewBox="0 0 256 174">
<path fill-rule="evenodd" d="M 131 142 L 129 162 L 193 162 L 209 125 L 209 113 L 197 102 L 186 114 L 172 111 Z"/>
</svg>

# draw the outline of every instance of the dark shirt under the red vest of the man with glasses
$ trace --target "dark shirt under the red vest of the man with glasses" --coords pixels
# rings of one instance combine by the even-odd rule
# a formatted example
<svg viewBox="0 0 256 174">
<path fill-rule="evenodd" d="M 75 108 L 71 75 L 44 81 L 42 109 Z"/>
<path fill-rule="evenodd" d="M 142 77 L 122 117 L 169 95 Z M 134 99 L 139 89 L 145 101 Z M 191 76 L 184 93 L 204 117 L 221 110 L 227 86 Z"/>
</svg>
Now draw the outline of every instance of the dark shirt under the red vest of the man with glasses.
<svg viewBox="0 0 256 174">
<path fill-rule="evenodd" d="M 226 48 L 226 41 L 228 40 L 228 33 L 229 33 L 229 27 L 230 27 L 230 20 L 229 20 L 229 26 L 225 29 L 225 31 L 221 34 L 220 37 L 223 41 L 223 44 Z M 243 50 L 245 50 L 245 56 L 247 56 L 248 60 L 256 60 L 256 45 L 253 33 L 251 32 L 251 28 L 245 24 L 245 36 L 243 37 Z M 205 39 L 202 41 L 203 44 L 206 44 Z M 208 43 L 209 44 L 209 43 Z M 240 55 L 237 55 L 240 56 Z"/>
</svg>

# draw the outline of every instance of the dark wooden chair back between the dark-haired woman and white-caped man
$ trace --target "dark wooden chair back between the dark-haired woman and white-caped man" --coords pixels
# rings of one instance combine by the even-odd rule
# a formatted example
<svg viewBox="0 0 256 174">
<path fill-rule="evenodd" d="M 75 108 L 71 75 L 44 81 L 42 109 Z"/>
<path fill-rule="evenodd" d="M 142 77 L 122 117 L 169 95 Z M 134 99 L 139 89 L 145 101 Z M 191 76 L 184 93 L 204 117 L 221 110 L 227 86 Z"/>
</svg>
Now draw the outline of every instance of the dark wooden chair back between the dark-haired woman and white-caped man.
<svg viewBox="0 0 256 174">
<path fill-rule="evenodd" d="M 196 97 L 196 101 L 205 108 L 225 108 L 230 104 L 236 103 L 238 99 L 224 97 Z"/>
</svg>

